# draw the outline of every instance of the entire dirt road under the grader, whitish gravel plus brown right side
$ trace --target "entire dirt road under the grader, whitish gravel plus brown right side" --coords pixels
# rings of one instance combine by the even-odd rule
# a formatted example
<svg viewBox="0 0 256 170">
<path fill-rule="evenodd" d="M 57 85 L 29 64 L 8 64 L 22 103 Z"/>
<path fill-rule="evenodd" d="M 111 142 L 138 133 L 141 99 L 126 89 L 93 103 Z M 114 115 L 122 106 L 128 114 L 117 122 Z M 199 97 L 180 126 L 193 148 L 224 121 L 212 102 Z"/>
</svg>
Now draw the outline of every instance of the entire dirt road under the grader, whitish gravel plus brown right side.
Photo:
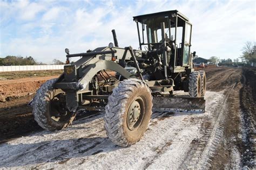
<svg viewBox="0 0 256 170">
<path fill-rule="evenodd" d="M 18 114 L 17 121 L 25 115 L 30 132 L 10 128 L 14 135 L 2 136 L 0 168 L 255 167 L 256 70 L 221 67 L 206 69 L 206 75 L 206 113 L 154 112 L 143 139 L 127 148 L 107 139 L 104 113 L 80 115 L 55 132 L 41 130 L 29 110 Z M 17 135 L 24 136 L 10 139 Z"/>
</svg>

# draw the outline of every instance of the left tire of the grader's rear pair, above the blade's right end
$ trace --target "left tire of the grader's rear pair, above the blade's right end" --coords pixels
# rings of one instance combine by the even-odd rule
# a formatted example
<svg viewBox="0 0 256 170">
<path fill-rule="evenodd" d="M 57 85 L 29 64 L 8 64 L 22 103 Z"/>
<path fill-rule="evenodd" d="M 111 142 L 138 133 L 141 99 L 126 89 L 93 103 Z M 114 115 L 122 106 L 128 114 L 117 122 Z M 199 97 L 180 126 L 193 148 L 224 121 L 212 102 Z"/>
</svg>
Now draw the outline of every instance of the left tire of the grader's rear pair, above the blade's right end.
<svg viewBox="0 0 256 170">
<path fill-rule="evenodd" d="M 188 81 L 188 93 L 191 97 L 201 97 L 201 76 L 199 71 L 194 71 L 190 73 L 190 78 Z"/>
</svg>

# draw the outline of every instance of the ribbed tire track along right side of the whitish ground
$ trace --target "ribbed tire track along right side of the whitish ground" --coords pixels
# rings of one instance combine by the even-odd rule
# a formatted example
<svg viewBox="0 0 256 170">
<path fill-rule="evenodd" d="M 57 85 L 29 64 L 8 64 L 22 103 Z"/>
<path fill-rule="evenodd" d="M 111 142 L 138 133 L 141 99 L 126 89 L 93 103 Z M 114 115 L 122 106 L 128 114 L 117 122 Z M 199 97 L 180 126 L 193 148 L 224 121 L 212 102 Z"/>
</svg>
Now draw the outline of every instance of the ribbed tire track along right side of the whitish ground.
<svg viewBox="0 0 256 170">
<path fill-rule="evenodd" d="M 236 83 L 233 84 L 232 89 Z M 219 101 L 217 107 L 212 111 L 212 117 L 208 121 L 208 125 L 204 127 L 203 137 L 199 141 L 192 142 L 191 151 L 184 160 L 183 169 L 207 169 L 211 167 L 212 158 L 219 141 L 223 137 L 223 131 L 226 121 L 226 100 L 231 94 L 231 90 L 227 91 L 225 97 Z"/>
</svg>

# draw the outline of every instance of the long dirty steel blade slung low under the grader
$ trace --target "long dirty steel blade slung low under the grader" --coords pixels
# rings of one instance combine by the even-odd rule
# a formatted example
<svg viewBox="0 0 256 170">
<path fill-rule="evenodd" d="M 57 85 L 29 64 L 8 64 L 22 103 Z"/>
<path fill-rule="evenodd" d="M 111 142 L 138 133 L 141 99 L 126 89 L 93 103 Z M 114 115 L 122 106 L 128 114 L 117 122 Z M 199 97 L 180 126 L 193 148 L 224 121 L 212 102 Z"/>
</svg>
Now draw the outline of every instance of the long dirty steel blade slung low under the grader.
<svg viewBox="0 0 256 170">
<path fill-rule="evenodd" d="M 205 99 L 203 97 L 153 97 L 153 111 L 204 113 Z"/>
</svg>

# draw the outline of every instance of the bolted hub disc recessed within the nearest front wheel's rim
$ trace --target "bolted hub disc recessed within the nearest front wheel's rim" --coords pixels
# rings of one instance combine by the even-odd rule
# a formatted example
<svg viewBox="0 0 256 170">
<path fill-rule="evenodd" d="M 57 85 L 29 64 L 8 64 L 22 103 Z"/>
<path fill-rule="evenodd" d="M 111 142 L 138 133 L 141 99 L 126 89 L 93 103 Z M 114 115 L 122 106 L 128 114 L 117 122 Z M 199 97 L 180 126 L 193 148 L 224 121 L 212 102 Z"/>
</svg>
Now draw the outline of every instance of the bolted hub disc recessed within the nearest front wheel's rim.
<svg viewBox="0 0 256 170">
<path fill-rule="evenodd" d="M 128 126 L 130 130 L 134 130 L 134 125 L 137 123 L 140 116 L 140 105 L 139 102 L 134 100 L 128 111 Z"/>
</svg>

